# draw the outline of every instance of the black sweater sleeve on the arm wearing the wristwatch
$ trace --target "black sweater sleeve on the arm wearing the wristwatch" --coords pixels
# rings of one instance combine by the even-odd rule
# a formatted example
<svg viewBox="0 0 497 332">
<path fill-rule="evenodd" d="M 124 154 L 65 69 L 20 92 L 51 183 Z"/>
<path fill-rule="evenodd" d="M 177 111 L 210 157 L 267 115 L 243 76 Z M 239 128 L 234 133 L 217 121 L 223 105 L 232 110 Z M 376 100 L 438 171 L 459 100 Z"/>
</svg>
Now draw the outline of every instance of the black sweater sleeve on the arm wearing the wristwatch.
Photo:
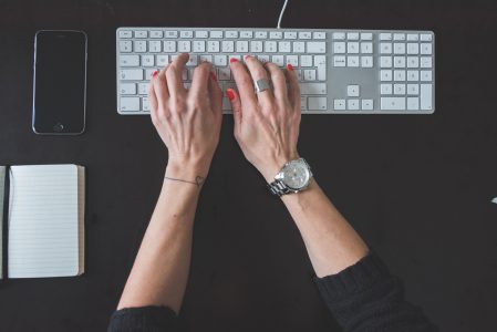
<svg viewBox="0 0 497 332">
<path fill-rule="evenodd" d="M 375 253 L 314 281 L 345 332 L 438 331 L 420 308 L 405 301 L 401 280 Z"/>
</svg>

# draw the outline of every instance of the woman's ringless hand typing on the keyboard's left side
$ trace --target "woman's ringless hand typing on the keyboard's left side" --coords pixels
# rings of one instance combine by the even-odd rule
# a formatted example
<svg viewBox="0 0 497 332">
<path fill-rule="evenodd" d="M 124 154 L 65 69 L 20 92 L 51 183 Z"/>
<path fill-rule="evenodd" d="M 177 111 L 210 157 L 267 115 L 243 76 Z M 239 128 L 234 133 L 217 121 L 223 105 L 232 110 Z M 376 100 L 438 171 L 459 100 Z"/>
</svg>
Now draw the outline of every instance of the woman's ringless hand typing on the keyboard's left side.
<svg viewBox="0 0 497 332">
<path fill-rule="evenodd" d="M 205 178 L 219 142 L 222 92 L 204 62 L 195 69 L 191 87 L 182 74 L 188 54 L 176 58 L 152 77 L 148 96 L 157 133 L 168 149 L 166 176 L 196 180 Z"/>
</svg>

